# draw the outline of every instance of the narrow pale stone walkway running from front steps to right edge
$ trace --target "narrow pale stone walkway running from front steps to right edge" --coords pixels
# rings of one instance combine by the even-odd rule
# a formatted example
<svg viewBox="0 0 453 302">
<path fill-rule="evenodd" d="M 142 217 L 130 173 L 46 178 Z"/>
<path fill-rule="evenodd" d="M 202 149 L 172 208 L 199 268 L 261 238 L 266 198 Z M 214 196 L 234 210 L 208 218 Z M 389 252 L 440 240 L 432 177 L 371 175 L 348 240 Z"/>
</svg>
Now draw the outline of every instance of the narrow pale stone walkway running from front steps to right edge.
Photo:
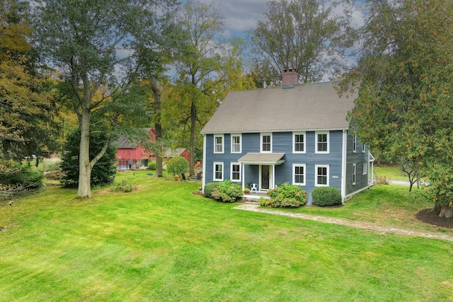
<svg viewBox="0 0 453 302">
<path fill-rule="evenodd" d="M 323 223 L 334 223 L 340 224 L 342 226 L 351 226 L 353 228 L 363 228 L 369 231 L 381 232 L 381 233 L 395 233 L 399 235 L 405 236 L 418 236 L 424 238 L 433 238 L 433 239 L 440 239 L 440 240 L 447 240 L 453 242 L 453 236 L 450 235 L 443 235 L 437 233 L 428 233 L 428 232 L 421 232 L 421 231 L 408 231 L 403 228 L 395 228 L 393 226 L 379 226 L 375 223 L 364 222 L 364 221 L 354 221 L 349 219 L 343 218 L 334 218 L 334 217 L 327 217 L 321 215 L 311 215 L 311 214 L 303 214 L 303 213 L 292 213 L 287 211 L 279 211 L 273 209 L 263 209 L 260 208 L 259 204 L 253 202 L 246 202 L 245 204 L 241 204 L 239 207 L 235 207 L 234 209 L 246 210 L 246 211 L 256 211 L 265 214 L 274 214 L 280 216 L 288 216 L 297 219 L 307 219 L 313 221 L 319 221 Z"/>
</svg>

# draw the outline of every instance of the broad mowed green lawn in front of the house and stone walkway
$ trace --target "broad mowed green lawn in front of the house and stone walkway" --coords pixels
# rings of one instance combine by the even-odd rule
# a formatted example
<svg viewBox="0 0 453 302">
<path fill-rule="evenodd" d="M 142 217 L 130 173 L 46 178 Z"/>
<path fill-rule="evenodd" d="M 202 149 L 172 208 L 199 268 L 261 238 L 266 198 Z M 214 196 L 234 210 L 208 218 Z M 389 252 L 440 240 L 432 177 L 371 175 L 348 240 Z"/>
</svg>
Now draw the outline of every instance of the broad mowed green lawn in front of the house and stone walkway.
<svg viewBox="0 0 453 302">
<path fill-rule="evenodd" d="M 240 211 L 192 194 L 198 182 L 125 179 L 137 190 L 16 199 L 13 226 L 1 202 L 0 301 L 452 301 L 451 242 Z"/>
</svg>

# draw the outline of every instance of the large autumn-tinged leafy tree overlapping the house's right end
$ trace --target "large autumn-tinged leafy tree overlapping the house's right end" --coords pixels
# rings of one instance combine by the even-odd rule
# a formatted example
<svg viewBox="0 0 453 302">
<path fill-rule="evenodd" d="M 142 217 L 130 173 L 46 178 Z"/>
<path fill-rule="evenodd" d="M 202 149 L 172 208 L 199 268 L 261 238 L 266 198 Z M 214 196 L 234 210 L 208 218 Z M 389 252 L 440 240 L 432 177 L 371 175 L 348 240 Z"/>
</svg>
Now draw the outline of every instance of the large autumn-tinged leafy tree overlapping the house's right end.
<svg viewBox="0 0 453 302">
<path fill-rule="evenodd" d="M 359 88 L 350 117 L 372 150 L 415 163 L 440 216 L 453 201 L 453 2 L 370 1 L 363 56 L 343 91 Z"/>
</svg>

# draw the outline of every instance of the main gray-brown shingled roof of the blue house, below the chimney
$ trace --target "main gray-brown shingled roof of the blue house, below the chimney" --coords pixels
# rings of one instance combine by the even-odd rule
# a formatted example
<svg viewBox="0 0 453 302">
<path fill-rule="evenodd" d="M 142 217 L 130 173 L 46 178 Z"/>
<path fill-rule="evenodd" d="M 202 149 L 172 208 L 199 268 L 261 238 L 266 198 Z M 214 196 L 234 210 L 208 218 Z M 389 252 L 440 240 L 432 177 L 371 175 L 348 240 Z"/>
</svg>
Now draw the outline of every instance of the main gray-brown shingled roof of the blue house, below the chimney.
<svg viewBox="0 0 453 302">
<path fill-rule="evenodd" d="M 340 98 L 332 82 L 231 91 L 201 133 L 348 129 L 356 97 Z"/>
</svg>

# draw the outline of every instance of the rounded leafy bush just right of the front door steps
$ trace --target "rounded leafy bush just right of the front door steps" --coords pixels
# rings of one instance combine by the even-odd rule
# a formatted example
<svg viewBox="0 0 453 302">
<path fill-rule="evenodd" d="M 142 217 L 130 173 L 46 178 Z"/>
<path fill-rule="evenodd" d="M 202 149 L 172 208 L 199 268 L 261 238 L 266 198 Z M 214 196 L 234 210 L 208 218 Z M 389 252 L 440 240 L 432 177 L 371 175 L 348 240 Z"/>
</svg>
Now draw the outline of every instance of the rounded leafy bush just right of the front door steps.
<svg viewBox="0 0 453 302">
<path fill-rule="evenodd" d="M 260 198 L 263 207 L 285 208 L 300 207 L 305 204 L 307 193 L 298 185 L 285 182 L 272 190 L 268 190 L 270 199 Z"/>
</svg>

